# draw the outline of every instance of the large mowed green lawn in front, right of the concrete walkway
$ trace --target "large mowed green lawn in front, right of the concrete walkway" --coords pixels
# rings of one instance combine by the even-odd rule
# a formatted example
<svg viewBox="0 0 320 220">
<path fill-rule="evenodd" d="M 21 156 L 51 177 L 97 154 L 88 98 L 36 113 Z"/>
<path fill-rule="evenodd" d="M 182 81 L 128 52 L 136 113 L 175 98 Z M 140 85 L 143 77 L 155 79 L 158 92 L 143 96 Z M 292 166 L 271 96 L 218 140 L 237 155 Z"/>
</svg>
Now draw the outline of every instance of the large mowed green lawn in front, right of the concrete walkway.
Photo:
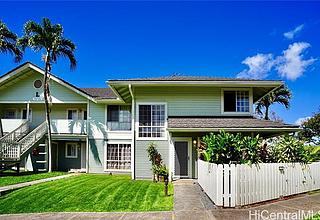
<svg viewBox="0 0 320 220">
<path fill-rule="evenodd" d="M 173 186 L 127 175 L 82 174 L 0 197 L 0 213 L 162 211 L 173 208 Z"/>
</svg>

